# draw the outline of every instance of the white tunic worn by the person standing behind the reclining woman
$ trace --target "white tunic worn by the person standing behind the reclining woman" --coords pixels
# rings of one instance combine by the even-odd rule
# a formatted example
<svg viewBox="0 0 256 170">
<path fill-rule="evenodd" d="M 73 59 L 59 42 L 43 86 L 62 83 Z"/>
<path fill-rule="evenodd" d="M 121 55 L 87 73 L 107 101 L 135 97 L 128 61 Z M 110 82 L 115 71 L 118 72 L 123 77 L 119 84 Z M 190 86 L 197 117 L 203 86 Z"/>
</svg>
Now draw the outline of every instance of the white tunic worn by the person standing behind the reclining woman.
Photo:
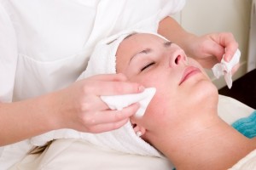
<svg viewBox="0 0 256 170">
<path fill-rule="evenodd" d="M 84 71 L 97 41 L 132 27 L 157 31 L 158 22 L 177 13 L 184 3 L 0 0 L 0 101 L 29 99 L 67 87 Z M 157 20 L 152 22 L 153 18 Z M 9 155 L 13 146 L 0 148 L 0 169 L 14 162 Z"/>
</svg>

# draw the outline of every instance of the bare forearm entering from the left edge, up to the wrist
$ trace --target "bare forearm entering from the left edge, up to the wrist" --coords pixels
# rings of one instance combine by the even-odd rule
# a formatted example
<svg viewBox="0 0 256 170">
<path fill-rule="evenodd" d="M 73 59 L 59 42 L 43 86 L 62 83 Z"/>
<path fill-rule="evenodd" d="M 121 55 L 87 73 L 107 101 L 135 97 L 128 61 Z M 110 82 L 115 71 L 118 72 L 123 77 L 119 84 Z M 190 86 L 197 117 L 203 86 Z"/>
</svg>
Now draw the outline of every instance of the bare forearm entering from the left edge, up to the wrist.
<svg viewBox="0 0 256 170">
<path fill-rule="evenodd" d="M 12 144 L 57 127 L 53 95 L 0 103 L 0 146 Z"/>
</svg>

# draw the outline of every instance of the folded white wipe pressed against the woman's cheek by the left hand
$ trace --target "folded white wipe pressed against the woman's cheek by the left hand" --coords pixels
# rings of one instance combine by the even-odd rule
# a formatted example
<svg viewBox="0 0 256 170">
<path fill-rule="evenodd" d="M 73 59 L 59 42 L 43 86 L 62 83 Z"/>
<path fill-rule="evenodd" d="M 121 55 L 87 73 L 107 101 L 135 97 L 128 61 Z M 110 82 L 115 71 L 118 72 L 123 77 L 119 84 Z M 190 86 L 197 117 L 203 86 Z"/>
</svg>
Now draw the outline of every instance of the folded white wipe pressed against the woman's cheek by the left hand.
<svg viewBox="0 0 256 170">
<path fill-rule="evenodd" d="M 154 97 L 155 91 L 155 88 L 146 88 L 140 94 L 101 96 L 101 99 L 111 110 L 118 111 L 121 111 L 131 104 L 139 102 L 140 108 L 137 110 L 135 116 L 142 117 L 148 107 L 149 102 Z"/>
</svg>

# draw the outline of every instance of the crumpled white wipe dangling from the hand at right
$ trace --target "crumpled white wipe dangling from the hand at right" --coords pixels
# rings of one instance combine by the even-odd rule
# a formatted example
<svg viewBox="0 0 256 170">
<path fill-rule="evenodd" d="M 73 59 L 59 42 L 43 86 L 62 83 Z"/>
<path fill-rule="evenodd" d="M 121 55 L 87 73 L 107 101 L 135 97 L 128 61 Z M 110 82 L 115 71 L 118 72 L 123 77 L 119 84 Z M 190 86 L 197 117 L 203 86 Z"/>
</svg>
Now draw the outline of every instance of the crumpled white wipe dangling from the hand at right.
<svg viewBox="0 0 256 170">
<path fill-rule="evenodd" d="M 219 78 L 224 75 L 224 79 L 229 88 L 232 87 L 232 68 L 239 62 L 241 52 L 239 49 L 236 50 L 236 54 L 230 60 L 230 62 L 221 59 L 220 63 L 212 67 L 212 71 L 215 77 Z"/>
</svg>

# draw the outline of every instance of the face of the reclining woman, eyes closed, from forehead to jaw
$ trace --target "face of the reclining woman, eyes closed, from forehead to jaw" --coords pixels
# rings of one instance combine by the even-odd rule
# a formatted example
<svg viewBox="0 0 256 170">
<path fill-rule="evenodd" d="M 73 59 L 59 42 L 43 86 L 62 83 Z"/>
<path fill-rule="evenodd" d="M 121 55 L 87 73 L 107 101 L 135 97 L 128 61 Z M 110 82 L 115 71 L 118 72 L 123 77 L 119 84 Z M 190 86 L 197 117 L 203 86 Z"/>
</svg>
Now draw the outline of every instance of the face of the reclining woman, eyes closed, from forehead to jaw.
<svg viewBox="0 0 256 170">
<path fill-rule="evenodd" d="M 161 37 L 146 33 L 127 37 L 119 44 L 116 55 L 117 72 L 124 73 L 131 82 L 156 88 L 143 118 L 134 118 L 148 130 L 155 129 L 155 124 L 166 126 L 170 119 L 178 122 L 183 113 L 202 102 L 207 104 L 207 98 L 216 94 L 201 65 Z"/>
</svg>

